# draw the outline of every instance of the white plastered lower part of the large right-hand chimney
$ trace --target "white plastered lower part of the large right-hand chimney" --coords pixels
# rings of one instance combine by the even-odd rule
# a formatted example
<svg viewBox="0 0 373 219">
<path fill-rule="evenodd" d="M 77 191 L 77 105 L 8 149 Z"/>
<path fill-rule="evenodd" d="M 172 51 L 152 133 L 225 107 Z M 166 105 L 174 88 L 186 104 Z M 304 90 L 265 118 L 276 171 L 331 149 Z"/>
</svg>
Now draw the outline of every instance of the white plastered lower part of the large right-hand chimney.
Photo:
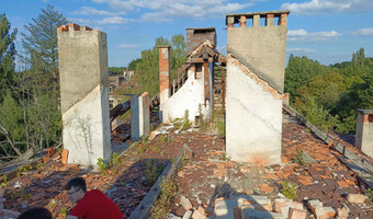
<svg viewBox="0 0 373 219">
<path fill-rule="evenodd" d="M 226 152 L 238 162 L 281 163 L 282 95 L 227 57 Z"/>
</svg>

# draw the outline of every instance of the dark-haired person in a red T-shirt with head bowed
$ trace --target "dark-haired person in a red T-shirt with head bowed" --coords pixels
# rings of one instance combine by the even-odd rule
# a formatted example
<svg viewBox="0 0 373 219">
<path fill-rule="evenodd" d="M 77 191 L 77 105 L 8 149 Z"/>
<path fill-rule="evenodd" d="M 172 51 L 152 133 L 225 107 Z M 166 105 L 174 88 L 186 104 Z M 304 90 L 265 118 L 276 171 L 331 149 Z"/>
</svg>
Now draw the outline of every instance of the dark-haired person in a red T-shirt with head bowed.
<svg viewBox="0 0 373 219">
<path fill-rule="evenodd" d="M 66 219 L 124 219 L 114 201 L 101 191 L 87 192 L 86 181 L 82 177 L 70 180 L 65 189 L 70 201 L 76 204 Z"/>
</svg>

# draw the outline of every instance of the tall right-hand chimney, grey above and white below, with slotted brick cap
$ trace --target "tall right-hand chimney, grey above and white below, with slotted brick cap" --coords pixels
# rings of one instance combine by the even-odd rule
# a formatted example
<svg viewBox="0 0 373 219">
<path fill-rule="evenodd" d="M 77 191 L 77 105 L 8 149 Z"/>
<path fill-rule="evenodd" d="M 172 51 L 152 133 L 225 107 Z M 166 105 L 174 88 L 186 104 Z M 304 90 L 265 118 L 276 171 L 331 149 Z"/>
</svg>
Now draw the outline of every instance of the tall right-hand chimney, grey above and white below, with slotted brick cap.
<svg viewBox="0 0 373 219">
<path fill-rule="evenodd" d="M 226 152 L 235 161 L 281 163 L 287 14 L 227 15 Z M 260 18 L 267 26 L 258 26 Z M 273 18 L 282 18 L 281 25 Z M 253 26 L 246 26 L 249 20 Z"/>
</svg>

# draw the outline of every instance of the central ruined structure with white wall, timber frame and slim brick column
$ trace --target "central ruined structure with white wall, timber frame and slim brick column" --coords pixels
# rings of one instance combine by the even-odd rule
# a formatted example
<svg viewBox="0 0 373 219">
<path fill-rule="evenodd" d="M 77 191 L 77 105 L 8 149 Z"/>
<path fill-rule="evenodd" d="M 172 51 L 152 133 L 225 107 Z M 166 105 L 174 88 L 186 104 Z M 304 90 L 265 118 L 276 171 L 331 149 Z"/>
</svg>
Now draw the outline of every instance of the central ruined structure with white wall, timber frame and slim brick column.
<svg viewBox="0 0 373 219">
<path fill-rule="evenodd" d="M 188 59 L 170 81 L 170 47 L 159 46 L 159 99 L 162 122 L 181 118 L 210 118 L 213 106 L 214 64 L 226 62 L 216 49 L 215 28 L 188 28 Z"/>
</svg>

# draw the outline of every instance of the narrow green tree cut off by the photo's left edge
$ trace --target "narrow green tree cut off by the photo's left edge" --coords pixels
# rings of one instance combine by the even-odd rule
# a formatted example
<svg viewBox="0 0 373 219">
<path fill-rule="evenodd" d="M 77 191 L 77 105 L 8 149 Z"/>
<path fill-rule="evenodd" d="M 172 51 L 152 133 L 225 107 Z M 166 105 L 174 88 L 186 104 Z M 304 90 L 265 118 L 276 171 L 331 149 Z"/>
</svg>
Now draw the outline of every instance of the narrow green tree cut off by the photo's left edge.
<svg viewBox="0 0 373 219">
<path fill-rule="evenodd" d="M 0 14 L 0 103 L 7 89 L 14 84 L 14 56 L 16 54 L 14 39 L 16 28 L 11 31 L 5 14 Z"/>
</svg>

